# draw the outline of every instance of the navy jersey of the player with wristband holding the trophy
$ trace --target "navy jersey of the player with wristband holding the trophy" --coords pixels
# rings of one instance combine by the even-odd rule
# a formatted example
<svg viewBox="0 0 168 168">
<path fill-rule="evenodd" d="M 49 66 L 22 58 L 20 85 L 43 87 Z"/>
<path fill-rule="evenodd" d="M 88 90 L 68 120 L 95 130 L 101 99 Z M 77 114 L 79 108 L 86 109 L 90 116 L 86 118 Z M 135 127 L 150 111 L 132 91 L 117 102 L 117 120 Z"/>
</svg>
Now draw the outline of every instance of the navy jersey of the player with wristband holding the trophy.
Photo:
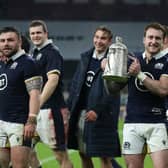
<svg viewBox="0 0 168 168">
<path fill-rule="evenodd" d="M 136 53 L 141 70 L 148 77 L 159 80 L 161 75 L 168 76 L 168 59 L 156 56 L 147 64 L 143 53 Z M 128 63 L 128 65 L 131 61 Z M 128 80 L 127 123 L 160 123 L 165 120 L 165 98 L 151 93 L 142 82 L 131 76 Z"/>
</svg>

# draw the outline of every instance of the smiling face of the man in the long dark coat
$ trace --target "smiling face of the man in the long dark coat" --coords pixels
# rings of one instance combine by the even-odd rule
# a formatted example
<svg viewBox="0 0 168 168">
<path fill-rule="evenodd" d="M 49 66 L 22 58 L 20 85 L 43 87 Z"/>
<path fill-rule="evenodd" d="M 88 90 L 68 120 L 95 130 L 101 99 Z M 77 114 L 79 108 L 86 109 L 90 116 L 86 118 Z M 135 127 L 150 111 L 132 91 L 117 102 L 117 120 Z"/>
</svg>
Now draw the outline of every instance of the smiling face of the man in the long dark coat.
<svg viewBox="0 0 168 168">
<path fill-rule="evenodd" d="M 97 30 L 93 37 L 93 43 L 95 46 L 95 50 L 98 54 L 106 51 L 106 49 L 111 44 L 111 37 L 109 34 L 102 30 Z"/>
</svg>

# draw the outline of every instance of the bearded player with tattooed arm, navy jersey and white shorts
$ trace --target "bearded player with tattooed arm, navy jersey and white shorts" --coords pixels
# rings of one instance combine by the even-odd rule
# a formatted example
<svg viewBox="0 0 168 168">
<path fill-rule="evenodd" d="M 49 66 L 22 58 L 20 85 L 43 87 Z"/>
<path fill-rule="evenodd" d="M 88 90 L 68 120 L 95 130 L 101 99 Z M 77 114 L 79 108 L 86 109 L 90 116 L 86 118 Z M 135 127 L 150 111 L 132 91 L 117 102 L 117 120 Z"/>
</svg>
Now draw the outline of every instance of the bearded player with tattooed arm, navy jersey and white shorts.
<svg viewBox="0 0 168 168">
<path fill-rule="evenodd" d="M 42 79 L 35 62 L 21 49 L 21 35 L 14 27 L 0 30 L 0 166 L 28 167 Z M 7 147 L 7 145 L 9 146 Z"/>
</svg>

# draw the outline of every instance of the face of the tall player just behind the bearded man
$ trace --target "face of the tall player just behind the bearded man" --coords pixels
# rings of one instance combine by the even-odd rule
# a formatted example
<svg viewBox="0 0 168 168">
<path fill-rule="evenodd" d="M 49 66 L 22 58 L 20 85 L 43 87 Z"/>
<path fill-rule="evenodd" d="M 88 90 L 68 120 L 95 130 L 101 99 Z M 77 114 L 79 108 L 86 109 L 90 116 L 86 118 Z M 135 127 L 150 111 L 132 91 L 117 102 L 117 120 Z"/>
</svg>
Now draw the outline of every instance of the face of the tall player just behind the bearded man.
<svg viewBox="0 0 168 168">
<path fill-rule="evenodd" d="M 40 47 L 48 39 L 48 33 L 44 31 L 42 25 L 29 28 L 29 35 L 32 43 Z"/>
</svg>

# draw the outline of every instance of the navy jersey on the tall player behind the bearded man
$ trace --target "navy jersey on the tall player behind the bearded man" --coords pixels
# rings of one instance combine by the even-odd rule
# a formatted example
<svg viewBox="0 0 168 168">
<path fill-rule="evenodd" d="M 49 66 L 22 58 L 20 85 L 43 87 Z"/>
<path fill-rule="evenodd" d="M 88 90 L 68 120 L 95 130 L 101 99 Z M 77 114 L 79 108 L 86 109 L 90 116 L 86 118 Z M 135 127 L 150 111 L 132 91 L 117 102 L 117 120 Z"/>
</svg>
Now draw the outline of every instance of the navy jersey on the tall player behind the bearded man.
<svg viewBox="0 0 168 168">
<path fill-rule="evenodd" d="M 49 41 L 49 40 L 48 40 Z M 47 82 L 47 74 L 57 73 L 59 75 L 58 85 L 52 94 L 52 96 L 47 100 L 42 108 L 51 108 L 52 106 L 60 106 L 63 100 L 62 88 L 62 74 L 63 74 L 63 57 L 58 51 L 57 47 L 48 42 L 41 49 L 36 51 L 34 50 L 33 58 L 36 60 L 38 71 L 43 77 L 43 85 Z"/>
</svg>

